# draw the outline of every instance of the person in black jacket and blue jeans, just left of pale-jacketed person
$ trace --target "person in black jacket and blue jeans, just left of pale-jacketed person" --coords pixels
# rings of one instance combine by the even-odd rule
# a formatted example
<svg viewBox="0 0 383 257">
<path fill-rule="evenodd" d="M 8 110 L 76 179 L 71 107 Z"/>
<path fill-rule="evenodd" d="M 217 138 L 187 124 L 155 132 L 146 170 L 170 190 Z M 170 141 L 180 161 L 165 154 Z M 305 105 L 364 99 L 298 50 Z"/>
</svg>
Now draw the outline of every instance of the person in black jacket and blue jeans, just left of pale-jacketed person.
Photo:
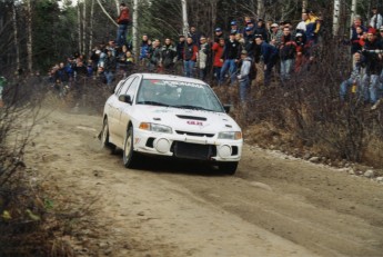
<svg viewBox="0 0 383 257">
<path fill-rule="evenodd" d="M 228 71 L 231 85 L 234 85 L 235 82 L 234 73 L 236 71 L 236 62 L 240 59 L 241 52 L 241 45 L 235 40 L 235 30 L 230 31 L 230 37 L 225 41 L 223 53 L 221 56 L 221 62 L 223 62 L 223 65 L 220 73 L 219 85 L 224 82 Z"/>
</svg>

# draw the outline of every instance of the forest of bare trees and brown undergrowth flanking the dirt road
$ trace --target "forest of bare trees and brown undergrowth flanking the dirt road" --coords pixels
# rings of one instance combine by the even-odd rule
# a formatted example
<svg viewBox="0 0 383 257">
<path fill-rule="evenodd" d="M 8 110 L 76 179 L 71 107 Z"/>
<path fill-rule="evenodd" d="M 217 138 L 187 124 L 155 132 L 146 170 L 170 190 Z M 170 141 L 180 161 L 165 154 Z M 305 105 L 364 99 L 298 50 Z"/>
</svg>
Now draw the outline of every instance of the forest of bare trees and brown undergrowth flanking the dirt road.
<svg viewBox="0 0 383 257">
<path fill-rule="evenodd" d="M 70 256 L 54 244 L 42 219 L 64 227 L 75 215 L 47 216 L 51 206 L 42 192 L 24 182 L 23 152 L 38 111 L 49 91 L 48 71 L 73 55 L 89 57 L 95 46 L 115 39 L 120 0 L 0 0 L 0 77 L 7 80 L 0 107 L 0 256 Z M 336 167 L 345 162 L 383 168 L 383 109 L 371 110 L 356 98 L 340 101 L 340 83 L 350 77 L 350 37 L 353 18 L 371 19 L 371 9 L 383 11 L 377 0 L 125 0 L 132 16 L 128 41 L 135 58 L 142 34 L 175 42 L 189 26 L 213 37 L 216 27 L 230 30 L 232 20 L 244 17 L 268 22 L 291 21 L 295 27 L 302 11 L 311 10 L 322 20 L 321 43 L 310 72 L 293 77 L 286 87 L 265 88 L 262 72 L 252 85 L 252 101 L 243 107 L 236 89 L 214 88 L 244 130 L 246 142 L 304 158 L 321 156 Z M 187 9 L 187 17 L 183 13 Z M 259 70 L 260 71 L 260 70 Z M 92 85 L 94 87 L 88 87 Z M 110 93 L 103 85 L 87 80 L 81 96 L 53 99 L 57 107 L 82 107 L 102 111 Z M 382 92 L 381 92 L 382 93 Z M 92 97 L 90 97 L 92 96 Z M 21 121 L 20 121 L 21 117 Z M 24 128 L 23 118 L 31 119 Z M 18 122 L 16 122 L 18 120 Z M 22 128 L 22 129 L 20 129 Z M 26 209 L 28 210 L 26 212 Z M 11 211 L 12 210 L 12 211 Z M 64 210 L 62 210 L 64 211 Z M 13 215 L 10 214 L 18 214 Z M 17 219 L 14 219 L 17 216 Z M 53 216 L 53 217 L 52 217 Z M 47 219 L 44 217 L 48 217 Z M 26 220 L 28 223 L 26 223 Z M 52 223 L 50 224 L 52 225 Z M 54 227 L 57 229 L 57 227 Z M 38 233 L 38 236 L 36 234 Z M 9 244 L 4 238 L 12 237 Z M 19 243 L 24 248 L 18 253 Z M 38 245 L 36 241 L 44 241 Z M 53 247 L 53 245 L 56 247 Z M 61 247 L 61 248 L 60 248 Z M 54 253 L 52 251 L 54 249 Z M 14 254 L 17 253 L 17 254 Z"/>
</svg>

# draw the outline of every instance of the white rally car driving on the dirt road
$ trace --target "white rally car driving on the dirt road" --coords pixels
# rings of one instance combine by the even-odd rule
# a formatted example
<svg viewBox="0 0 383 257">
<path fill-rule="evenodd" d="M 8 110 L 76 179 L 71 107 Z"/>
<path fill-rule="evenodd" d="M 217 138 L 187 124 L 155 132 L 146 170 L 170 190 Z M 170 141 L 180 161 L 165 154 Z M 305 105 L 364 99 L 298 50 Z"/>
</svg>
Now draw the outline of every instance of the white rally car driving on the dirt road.
<svg viewBox="0 0 383 257">
<path fill-rule="evenodd" d="M 121 80 L 103 111 L 102 147 L 123 150 L 134 168 L 140 155 L 209 161 L 233 175 L 242 131 L 205 82 L 170 75 L 134 73 Z"/>
</svg>

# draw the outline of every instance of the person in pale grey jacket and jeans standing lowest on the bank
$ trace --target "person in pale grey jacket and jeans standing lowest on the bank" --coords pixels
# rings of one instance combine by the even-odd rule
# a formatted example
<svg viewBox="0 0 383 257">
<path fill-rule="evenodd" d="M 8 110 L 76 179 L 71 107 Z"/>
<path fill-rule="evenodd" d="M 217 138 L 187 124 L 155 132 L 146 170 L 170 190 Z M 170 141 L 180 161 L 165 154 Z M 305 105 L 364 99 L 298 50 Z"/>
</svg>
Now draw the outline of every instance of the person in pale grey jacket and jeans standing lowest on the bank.
<svg viewBox="0 0 383 257">
<path fill-rule="evenodd" d="M 248 57 L 248 51 L 242 50 L 241 60 L 239 62 L 240 72 L 236 76 L 240 82 L 239 92 L 240 92 L 241 102 L 245 102 L 246 100 L 249 100 L 249 97 L 250 97 L 250 88 L 251 88 L 250 69 L 252 68 L 251 62 L 252 60 L 250 57 Z"/>
</svg>

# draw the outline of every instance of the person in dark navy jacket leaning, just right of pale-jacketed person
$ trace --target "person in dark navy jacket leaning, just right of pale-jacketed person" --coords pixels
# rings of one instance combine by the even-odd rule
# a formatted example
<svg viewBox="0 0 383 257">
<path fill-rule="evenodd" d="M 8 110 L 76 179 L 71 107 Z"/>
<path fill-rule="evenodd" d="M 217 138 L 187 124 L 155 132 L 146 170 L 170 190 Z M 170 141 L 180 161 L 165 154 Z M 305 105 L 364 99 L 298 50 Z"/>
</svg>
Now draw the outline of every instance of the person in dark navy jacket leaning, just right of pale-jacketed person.
<svg viewBox="0 0 383 257">
<path fill-rule="evenodd" d="M 255 43 L 261 48 L 261 56 L 263 59 L 264 86 L 268 87 L 271 81 L 273 67 L 278 60 L 276 47 L 265 42 L 262 36 L 255 36 Z"/>
</svg>

